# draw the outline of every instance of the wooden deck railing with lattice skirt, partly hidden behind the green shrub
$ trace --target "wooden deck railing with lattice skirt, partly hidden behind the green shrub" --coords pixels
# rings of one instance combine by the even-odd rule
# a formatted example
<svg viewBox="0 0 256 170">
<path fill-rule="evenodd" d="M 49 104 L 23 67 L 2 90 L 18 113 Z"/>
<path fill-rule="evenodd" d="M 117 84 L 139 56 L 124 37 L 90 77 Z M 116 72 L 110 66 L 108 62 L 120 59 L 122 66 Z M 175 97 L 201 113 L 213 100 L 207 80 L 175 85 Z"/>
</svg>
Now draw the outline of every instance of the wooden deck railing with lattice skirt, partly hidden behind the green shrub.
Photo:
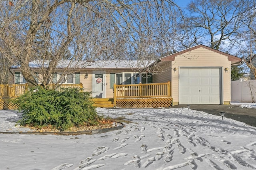
<svg viewBox="0 0 256 170">
<path fill-rule="evenodd" d="M 82 83 L 80 84 L 62 84 L 58 88 L 82 88 Z M 58 89 L 57 88 L 57 89 Z M 26 93 L 29 90 L 27 84 L 11 84 L 11 85 L 0 85 L 0 110 L 10 109 L 15 110 L 17 106 L 11 102 L 11 99 L 15 99 L 20 95 Z"/>
</svg>

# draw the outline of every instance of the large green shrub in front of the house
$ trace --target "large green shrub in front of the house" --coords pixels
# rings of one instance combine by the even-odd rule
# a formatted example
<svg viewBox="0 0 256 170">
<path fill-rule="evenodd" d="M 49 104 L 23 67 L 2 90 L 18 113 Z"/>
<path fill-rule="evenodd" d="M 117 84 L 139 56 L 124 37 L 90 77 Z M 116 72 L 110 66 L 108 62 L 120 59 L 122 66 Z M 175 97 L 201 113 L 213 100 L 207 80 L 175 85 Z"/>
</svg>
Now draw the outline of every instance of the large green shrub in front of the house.
<svg viewBox="0 0 256 170">
<path fill-rule="evenodd" d="M 101 119 L 96 113 L 89 92 L 80 88 L 46 90 L 36 87 L 16 99 L 22 112 L 20 125 L 46 127 L 51 125 L 59 130 L 81 125 L 98 125 Z M 34 88 L 34 89 L 36 89 Z"/>
</svg>

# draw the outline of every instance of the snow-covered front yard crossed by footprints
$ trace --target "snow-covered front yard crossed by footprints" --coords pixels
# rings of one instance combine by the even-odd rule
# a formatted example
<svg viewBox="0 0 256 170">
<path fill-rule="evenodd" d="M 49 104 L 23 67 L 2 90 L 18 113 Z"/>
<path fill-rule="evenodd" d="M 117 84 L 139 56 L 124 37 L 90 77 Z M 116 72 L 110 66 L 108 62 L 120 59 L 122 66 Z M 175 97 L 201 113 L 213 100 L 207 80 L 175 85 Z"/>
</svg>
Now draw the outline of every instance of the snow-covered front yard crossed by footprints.
<svg viewBox="0 0 256 170">
<path fill-rule="evenodd" d="M 0 169 L 256 169 L 256 127 L 187 108 L 97 111 L 133 123 L 94 135 L 0 134 Z M 29 130 L 16 119 L 0 111 L 0 131 Z"/>
</svg>

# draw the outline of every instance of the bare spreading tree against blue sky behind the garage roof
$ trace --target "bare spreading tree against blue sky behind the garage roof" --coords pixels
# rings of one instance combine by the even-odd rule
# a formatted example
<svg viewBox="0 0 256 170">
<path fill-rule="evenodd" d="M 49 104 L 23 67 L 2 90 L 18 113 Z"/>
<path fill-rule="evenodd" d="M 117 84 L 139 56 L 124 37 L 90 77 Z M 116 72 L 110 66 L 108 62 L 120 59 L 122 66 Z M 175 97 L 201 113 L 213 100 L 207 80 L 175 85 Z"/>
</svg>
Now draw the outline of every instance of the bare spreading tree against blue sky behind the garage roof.
<svg viewBox="0 0 256 170">
<path fill-rule="evenodd" d="M 251 20 L 248 11 L 252 8 L 254 0 L 192 0 L 187 8 L 190 12 L 187 27 L 194 36 L 192 43 L 202 40 L 217 50 L 221 45 L 222 51 L 232 49 L 238 32 L 247 30 Z"/>
</svg>

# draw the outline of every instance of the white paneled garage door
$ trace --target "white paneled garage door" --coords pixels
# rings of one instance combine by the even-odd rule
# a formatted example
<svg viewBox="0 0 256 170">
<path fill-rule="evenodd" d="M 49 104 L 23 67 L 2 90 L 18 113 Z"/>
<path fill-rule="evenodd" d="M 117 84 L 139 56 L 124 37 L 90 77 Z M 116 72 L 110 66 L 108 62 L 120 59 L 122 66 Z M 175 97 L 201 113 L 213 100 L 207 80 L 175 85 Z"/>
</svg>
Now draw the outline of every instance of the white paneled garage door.
<svg viewBox="0 0 256 170">
<path fill-rule="evenodd" d="M 180 68 L 180 104 L 221 104 L 220 68 Z"/>
</svg>

